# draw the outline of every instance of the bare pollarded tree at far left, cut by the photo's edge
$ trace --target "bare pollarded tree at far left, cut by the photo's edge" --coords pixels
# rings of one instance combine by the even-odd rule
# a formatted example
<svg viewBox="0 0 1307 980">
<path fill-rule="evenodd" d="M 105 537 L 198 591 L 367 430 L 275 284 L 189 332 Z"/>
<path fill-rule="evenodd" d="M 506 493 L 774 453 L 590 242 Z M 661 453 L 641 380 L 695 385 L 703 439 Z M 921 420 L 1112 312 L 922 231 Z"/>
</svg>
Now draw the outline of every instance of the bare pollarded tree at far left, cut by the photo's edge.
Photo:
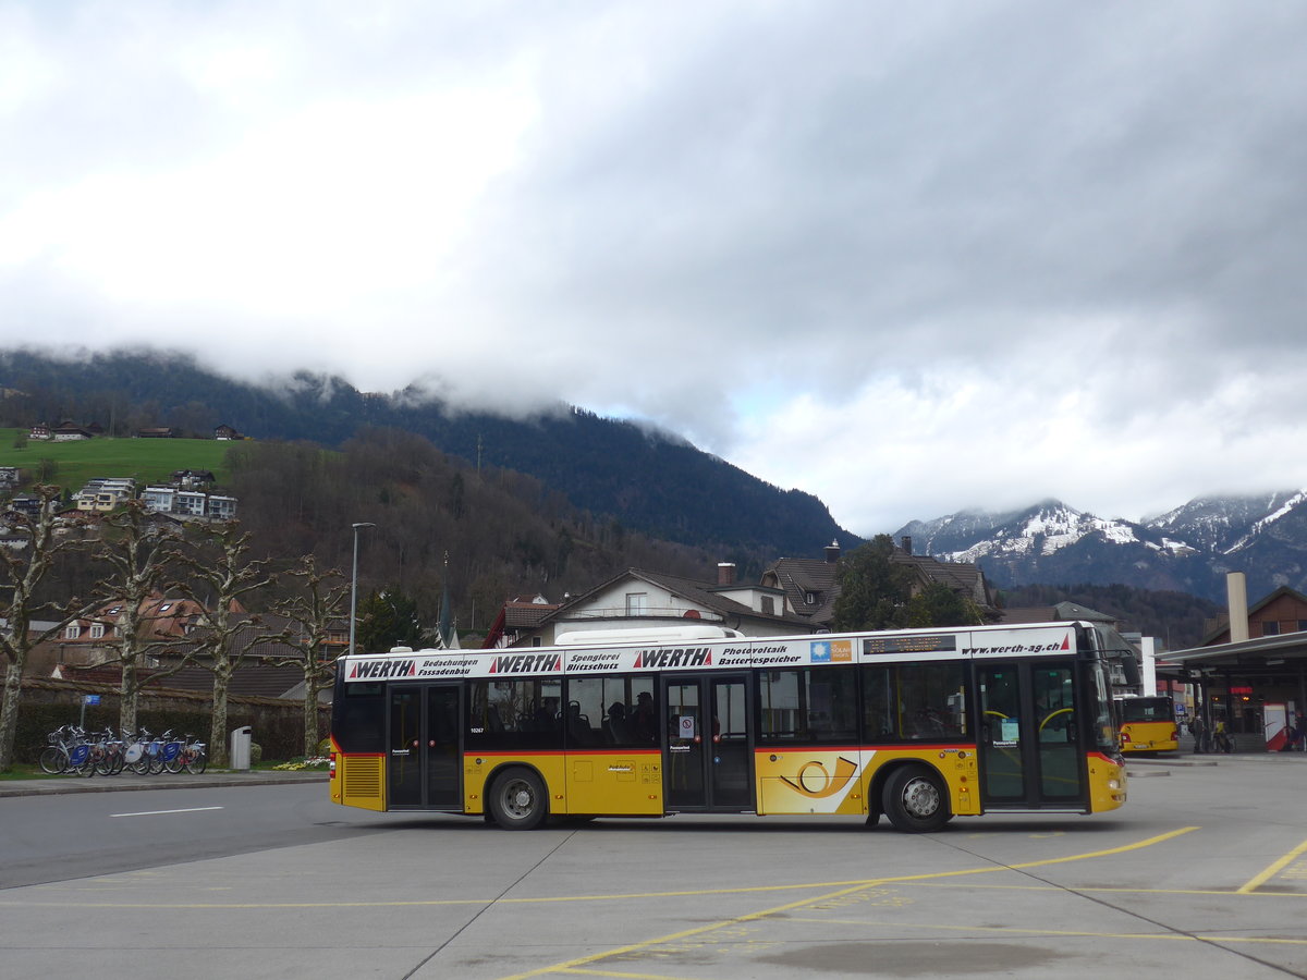
<svg viewBox="0 0 1307 980">
<path fill-rule="evenodd" d="M 56 636 L 80 614 L 77 600 L 56 614 L 56 622 L 42 632 L 33 635 L 31 623 L 44 609 L 54 606 L 37 597 L 42 579 L 54 567 L 56 555 L 81 544 L 77 536 L 56 533 L 55 500 L 59 487 L 38 486 L 34 490 L 41 498 L 41 511 L 35 517 L 17 515 L 10 519 L 10 527 L 24 533 L 27 544 L 20 549 L 0 547 L 0 567 L 7 581 L 0 583 L 9 593 L 9 601 L 0 605 L 4 629 L 0 629 L 0 653 L 4 656 L 4 707 L 0 708 L 0 772 L 13 766 L 13 745 L 18 733 L 18 703 L 22 700 L 22 672 L 27 666 L 27 656 L 41 643 Z"/>
</svg>

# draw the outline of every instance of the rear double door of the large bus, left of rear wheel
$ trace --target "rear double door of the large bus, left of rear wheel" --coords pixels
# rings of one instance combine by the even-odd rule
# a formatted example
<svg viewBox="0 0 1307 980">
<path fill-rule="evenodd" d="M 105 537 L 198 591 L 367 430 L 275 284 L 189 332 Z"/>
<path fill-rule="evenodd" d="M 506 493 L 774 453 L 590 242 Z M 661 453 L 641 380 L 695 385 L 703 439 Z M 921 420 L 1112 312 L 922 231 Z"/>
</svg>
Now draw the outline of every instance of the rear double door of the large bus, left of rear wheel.
<svg viewBox="0 0 1307 980">
<path fill-rule="evenodd" d="M 388 809 L 463 811 L 460 685 L 392 685 Z"/>
</svg>

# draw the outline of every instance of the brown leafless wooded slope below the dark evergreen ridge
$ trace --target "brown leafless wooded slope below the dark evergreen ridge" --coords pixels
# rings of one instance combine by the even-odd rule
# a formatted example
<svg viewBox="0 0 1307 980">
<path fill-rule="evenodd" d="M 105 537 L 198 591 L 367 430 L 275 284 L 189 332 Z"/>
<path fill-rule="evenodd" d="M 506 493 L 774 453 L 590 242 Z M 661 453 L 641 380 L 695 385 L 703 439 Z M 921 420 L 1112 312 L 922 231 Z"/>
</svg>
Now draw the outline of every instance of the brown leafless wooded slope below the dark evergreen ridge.
<svg viewBox="0 0 1307 980">
<path fill-rule="evenodd" d="M 494 466 L 477 473 L 423 436 L 393 429 L 365 429 L 339 451 L 307 442 L 233 443 L 227 469 L 222 490 L 240 500 L 254 557 L 286 570 L 312 554 L 319 568 L 348 576 L 352 525 L 375 524 L 358 536 L 361 592 L 399 589 L 434 625 L 448 584 L 461 631 L 485 630 L 512 596 L 538 592 L 557 602 L 627 567 L 711 580 L 718 561 L 736 561 L 752 576 L 763 561 L 626 531 L 579 511 L 535 477 Z M 46 597 L 90 595 L 101 574 L 89 557 L 68 555 Z M 265 589 L 251 608 L 271 608 L 281 592 Z"/>
</svg>

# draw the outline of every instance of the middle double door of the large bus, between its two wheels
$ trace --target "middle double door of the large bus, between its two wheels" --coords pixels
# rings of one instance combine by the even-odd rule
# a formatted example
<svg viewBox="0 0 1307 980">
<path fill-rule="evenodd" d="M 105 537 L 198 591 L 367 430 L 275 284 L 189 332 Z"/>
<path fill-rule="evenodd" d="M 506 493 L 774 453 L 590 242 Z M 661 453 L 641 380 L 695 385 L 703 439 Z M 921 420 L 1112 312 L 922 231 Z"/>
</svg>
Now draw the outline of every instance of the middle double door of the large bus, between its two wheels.
<svg viewBox="0 0 1307 980">
<path fill-rule="evenodd" d="M 664 800 L 669 810 L 753 810 L 748 674 L 664 677 Z"/>
</svg>

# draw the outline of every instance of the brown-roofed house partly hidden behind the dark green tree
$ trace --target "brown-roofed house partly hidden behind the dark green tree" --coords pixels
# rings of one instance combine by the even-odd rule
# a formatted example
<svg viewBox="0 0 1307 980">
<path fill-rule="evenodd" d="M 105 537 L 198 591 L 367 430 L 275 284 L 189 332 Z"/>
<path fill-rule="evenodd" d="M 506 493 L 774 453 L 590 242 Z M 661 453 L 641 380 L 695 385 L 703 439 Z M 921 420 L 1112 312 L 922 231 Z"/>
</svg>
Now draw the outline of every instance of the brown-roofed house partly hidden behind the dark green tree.
<svg viewBox="0 0 1307 980">
<path fill-rule="evenodd" d="M 831 541 L 823 558 L 778 558 L 762 574 L 762 584 L 780 589 L 795 613 L 812 625 L 829 629 L 835 615 L 839 583 L 840 546 Z M 971 562 L 941 562 L 931 555 L 912 554 L 912 538 L 903 537 L 890 561 L 911 570 L 914 593 L 927 585 L 942 584 L 970 598 L 980 609 L 993 608 L 993 596 L 980 566 Z"/>
</svg>

